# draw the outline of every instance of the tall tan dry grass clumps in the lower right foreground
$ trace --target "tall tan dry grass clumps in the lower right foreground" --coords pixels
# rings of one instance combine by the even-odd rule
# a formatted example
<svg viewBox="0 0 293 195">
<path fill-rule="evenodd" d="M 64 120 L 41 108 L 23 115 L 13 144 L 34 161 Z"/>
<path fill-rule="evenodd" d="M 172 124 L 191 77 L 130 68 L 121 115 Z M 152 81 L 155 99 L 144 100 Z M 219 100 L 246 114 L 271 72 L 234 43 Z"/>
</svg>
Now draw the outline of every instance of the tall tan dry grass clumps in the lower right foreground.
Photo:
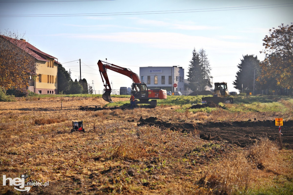
<svg viewBox="0 0 293 195">
<path fill-rule="evenodd" d="M 236 154 L 235 158 L 226 159 L 208 170 L 202 178 L 204 186 L 215 194 L 247 193 L 255 187 L 257 172 L 254 169 L 264 170 L 266 165 L 275 164 L 280 158 L 277 151 L 275 143 L 268 138 L 260 138 L 247 154 Z"/>
</svg>

